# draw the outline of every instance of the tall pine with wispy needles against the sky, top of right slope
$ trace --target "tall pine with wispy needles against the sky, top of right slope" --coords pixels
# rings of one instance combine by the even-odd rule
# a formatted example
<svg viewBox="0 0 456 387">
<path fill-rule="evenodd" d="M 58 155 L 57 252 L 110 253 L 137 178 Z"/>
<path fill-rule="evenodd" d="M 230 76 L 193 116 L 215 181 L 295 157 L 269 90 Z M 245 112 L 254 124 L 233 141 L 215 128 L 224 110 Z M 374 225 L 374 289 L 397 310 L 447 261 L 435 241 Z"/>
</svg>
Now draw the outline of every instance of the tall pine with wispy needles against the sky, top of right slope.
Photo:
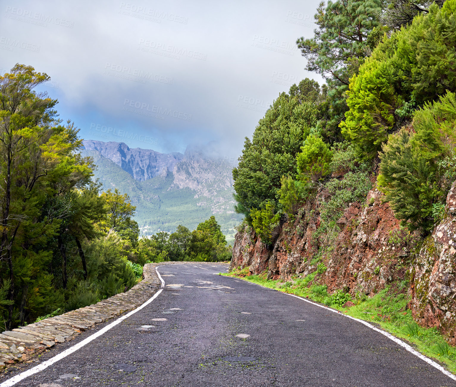
<svg viewBox="0 0 456 387">
<path fill-rule="evenodd" d="M 380 0 L 337 0 L 326 6 L 321 2 L 314 16 L 314 37 L 296 41 L 307 59 L 306 70 L 327 79 L 330 117 L 322 124 L 331 137 L 337 137 L 337 126 L 347 110 L 344 93 L 351 76 L 369 55 L 368 36 L 378 25 L 381 10 Z"/>
</svg>

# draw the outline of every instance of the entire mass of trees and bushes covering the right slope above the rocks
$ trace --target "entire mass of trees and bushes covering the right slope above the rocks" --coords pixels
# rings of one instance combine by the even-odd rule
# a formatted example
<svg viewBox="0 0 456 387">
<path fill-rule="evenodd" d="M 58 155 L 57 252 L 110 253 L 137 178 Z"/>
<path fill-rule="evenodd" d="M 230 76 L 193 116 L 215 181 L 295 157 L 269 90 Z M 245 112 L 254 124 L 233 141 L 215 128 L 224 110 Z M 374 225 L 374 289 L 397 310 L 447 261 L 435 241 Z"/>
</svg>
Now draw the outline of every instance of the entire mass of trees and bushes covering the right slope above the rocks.
<svg viewBox="0 0 456 387">
<path fill-rule="evenodd" d="M 314 37 L 297 44 L 327 85 L 293 85 L 246 139 L 233 170 L 238 211 L 270 243 L 279 220 L 299 218 L 315 198 L 313 239 L 326 249 L 380 172 L 395 216 L 426 234 L 456 179 L 456 0 L 328 1 L 315 19 Z M 308 102 L 306 122 L 277 113 Z"/>
</svg>

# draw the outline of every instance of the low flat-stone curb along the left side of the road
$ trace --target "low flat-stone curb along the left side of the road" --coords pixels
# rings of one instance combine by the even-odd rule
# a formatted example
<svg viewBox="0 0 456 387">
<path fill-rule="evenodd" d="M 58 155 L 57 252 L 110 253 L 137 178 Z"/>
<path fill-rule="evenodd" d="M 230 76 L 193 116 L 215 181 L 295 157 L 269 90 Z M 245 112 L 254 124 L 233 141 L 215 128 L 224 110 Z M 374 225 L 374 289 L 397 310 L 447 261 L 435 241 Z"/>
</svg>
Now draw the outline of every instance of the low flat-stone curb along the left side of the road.
<svg viewBox="0 0 456 387">
<path fill-rule="evenodd" d="M 84 306 L 63 313 L 60 316 L 49 317 L 20 326 L 12 331 L 0 334 L 0 370 L 15 362 L 21 362 L 22 354 L 31 354 L 50 348 L 58 343 L 70 341 L 87 331 L 96 324 L 110 318 L 132 311 L 149 300 L 161 287 L 161 281 L 155 272 L 155 267 L 170 264 L 208 264 L 219 265 L 225 262 L 160 262 L 145 264 L 143 280 L 125 293 L 119 293 L 101 300 L 96 304 Z"/>
</svg>

